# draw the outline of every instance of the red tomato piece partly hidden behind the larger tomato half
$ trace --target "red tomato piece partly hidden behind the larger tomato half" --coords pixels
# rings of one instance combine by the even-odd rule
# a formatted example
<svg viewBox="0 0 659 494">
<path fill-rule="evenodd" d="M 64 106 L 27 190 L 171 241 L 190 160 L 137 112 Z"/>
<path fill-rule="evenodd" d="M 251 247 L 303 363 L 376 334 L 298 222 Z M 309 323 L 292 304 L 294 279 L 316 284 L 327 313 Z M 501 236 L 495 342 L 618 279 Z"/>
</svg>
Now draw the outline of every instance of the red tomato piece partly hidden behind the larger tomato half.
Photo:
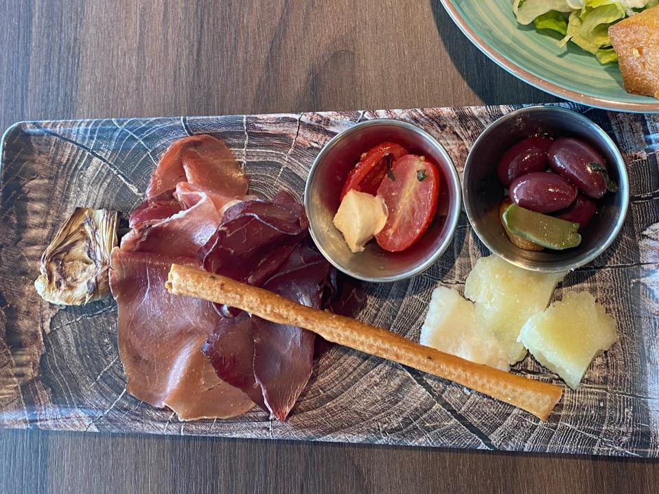
<svg viewBox="0 0 659 494">
<path fill-rule="evenodd" d="M 391 163 L 407 154 L 405 148 L 395 143 L 382 143 L 371 148 L 359 160 L 359 163 L 350 170 L 341 190 L 340 200 L 352 189 L 366 192 L 375 196 L 382 178 L 386 175 L 386 156 L 391 156 Z"/>
</svg>

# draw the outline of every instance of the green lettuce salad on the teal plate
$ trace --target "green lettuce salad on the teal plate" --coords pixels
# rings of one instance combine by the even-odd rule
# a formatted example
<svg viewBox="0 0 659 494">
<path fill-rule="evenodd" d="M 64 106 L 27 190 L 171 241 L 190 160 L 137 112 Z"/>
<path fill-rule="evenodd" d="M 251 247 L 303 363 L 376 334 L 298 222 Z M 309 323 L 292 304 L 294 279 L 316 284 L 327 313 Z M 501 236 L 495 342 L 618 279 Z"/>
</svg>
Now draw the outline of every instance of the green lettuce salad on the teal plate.
<svg viewBox="0 0 659 494">
<path fill-rule="evenodd" d="M 571 41 L 606 64 L 618 61 L 609 26 L 658 3 L 659 0 L 514 0 L 513 12 L 518 23 L 533 23 L 537 30 L 559 32 L 564 36 L 560 46 Z"/>
</svg>

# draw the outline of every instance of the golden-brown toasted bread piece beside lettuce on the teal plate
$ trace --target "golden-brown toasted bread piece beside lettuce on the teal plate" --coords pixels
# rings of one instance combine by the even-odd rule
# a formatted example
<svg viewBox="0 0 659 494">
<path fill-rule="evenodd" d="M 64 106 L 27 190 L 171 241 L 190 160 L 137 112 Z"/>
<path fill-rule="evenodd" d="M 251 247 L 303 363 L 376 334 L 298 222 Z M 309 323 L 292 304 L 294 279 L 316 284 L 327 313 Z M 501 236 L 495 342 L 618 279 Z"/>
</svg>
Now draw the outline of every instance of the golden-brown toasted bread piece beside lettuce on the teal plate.
<svg viewBox="0 0 659 494">
<path fill-rule="evenodd" d="M 659 98 L 659 5 L 609 27 L 628 93 Z"/>
</svg>

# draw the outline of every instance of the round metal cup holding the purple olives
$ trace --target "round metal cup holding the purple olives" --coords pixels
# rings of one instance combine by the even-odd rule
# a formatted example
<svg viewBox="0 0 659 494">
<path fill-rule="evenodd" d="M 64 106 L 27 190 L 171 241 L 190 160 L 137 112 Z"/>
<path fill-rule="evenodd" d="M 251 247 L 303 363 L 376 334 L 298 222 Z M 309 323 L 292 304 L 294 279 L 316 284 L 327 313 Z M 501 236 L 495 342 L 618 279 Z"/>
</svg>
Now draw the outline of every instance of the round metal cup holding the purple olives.
<svg viewBox="0 0 659 494">
<path fill-rule="evenodd" d="M 581 234 L 578 247 L 530 252 L 510 242 L 499 220 L 504 189 L 497 178 L 496 165 L 511 145 L 533 134 L 544 133 L 553 137 L 576 137 L 590 143 L 604 157 L 619 190 L 607 192 L 597 201 L 598 212 Z M 485 129 L 467 156 L 462 190 L 467 217 L 483 244 L 515 266 L 544 272 L 573 270 L 599 256 L 618 235 L 629 205 L 627 168 L 615 143 L 592 120 L 556 106 L 522 108 Z"/>
</svg>

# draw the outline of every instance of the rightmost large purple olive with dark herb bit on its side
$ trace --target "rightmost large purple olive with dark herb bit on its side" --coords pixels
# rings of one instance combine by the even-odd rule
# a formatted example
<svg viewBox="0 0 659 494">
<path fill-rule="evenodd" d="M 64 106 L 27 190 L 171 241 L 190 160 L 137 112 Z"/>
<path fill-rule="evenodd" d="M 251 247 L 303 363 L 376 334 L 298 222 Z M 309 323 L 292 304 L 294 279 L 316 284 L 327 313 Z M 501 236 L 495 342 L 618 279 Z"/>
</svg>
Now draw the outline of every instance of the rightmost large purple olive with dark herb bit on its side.
<svg viewBox="0 0 659 494">
<path fill-rule="evenodd" d="M 606 192 L 603 174 L 590 165 L 597 163 L 606 169 L 604 158 L 590 144 L 563 137 L 549 147 L 548 158 L 551 169 L 574 183 L 586 196 L 599 199 Z"/>
</svg>

